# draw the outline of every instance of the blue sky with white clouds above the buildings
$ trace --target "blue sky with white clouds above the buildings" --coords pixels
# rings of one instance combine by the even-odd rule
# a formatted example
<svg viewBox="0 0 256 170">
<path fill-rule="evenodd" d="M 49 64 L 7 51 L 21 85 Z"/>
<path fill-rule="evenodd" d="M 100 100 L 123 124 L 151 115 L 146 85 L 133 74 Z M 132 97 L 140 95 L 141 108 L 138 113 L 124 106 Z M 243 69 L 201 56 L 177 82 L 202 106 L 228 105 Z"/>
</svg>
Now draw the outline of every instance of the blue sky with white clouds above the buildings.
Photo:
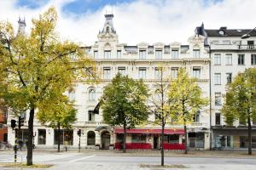
<svg viewBox="0 0 256 170">
<path fill-rule="evenodd" d="M 113 26 L 120 43 L 182 42 L 194 35 L 195 27 L 206 29 L 253 29 L 256 0 L 0 0 L 0 20 L 18 27 L 26 18 L 26 32 L 32 18 L 55 6 L 56 31 L 61 38 L 93 45 L 102 30 L 104 14 L 113 13 Z"/>
</svg>

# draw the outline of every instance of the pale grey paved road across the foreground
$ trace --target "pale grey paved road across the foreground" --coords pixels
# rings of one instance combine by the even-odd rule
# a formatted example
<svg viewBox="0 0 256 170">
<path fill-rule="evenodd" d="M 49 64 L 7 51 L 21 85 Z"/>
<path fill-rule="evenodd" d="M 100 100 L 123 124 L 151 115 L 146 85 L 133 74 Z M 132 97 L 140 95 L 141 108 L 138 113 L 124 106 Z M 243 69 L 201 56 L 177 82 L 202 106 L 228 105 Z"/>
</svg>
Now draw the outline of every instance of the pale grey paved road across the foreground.
<svg viewBox="0 0 256 170">
<path fill-rule="evenodd" d="M 12 162 L 14 156 L 11 154 L 1 154 L 0 162 Z M 26 161 L 26 153 L 21 153 L 21 157 Z M 159 156 L 101 156 L 75 152 L 61 153 L 34 153 L 34 163 L 54 164 L 51 170 L 81 170 L 81 169 L 99 169 L 99 170 L 147 170 L 150 168 L 139 167 L 140 164 L 160 164 Z M 189 167 L 189 170 L 255 170 L 255 158 L 204 158 L 204 157 L 166 157 L 165 162 L 171 164 L 183 164 Z M 0 167 L 0 169 L 4 169 Z M 8 169 L 8 168 L 5 168 Z M 154 168 L 157 169 L 157 168 Z M 163 168 L 159 168 L 163 169 Z M 180 168 L 179 168 L 180 169 Z M 173 169 L 172 169 L 173 170 Z M 188 169 L 187 169 L 188 170 Z"/>
</svg>

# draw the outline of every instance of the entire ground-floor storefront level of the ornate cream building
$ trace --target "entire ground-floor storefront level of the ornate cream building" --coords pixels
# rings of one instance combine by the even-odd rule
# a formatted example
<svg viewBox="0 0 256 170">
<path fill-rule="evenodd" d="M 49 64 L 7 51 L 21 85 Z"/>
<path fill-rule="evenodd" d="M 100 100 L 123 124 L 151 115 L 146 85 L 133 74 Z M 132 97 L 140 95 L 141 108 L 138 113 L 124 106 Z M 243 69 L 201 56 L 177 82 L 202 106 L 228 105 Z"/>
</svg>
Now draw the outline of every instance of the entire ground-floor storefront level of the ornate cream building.
<svg viewBox="0 0 256 170">
<path fill-rule="evenodd" d="M 81 136 L 78 131 L 81 129 Z M 127 129 L 126 148 L 142 150 L 160 150 L 161 129 L 136 128 Z M 195 149 L 208 149 L 208 133 L 189 132 L 188 147 Z M 9 144 L 14 145 L 15 131 L 9 127 Z M 73 129 L 57 129 L 49 127 L 34 127 L 33 144 L 36 148 L 56 148 L 60 136 L 60 144 L 63 147 L 78 148 L 79 140 L 81 148 L 122 149 L 124 131 L 122 128 L 75 127 Z M 26 147 L 28 131 L 21 128 L 17 134 L 20 147 Z M 184 131 L 180 129 L 165 129 L 164 148 L 166 150 L 184 149 Z"/>
</svg>

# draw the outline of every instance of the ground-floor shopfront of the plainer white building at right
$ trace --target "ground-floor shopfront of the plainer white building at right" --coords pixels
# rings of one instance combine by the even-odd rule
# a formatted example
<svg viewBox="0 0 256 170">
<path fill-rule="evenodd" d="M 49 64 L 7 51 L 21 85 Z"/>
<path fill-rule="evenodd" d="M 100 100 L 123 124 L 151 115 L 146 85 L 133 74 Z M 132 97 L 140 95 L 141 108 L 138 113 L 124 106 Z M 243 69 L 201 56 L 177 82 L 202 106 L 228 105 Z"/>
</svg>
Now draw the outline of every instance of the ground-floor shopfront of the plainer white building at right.
<svg viewBox="0 0 256 170">
<path fill-rule="evenodd" d="M 248 147 L 247 127 L 213 127 L 213 148 L 242 150 Z M 256 128 L 252 130 L 252 147 L 256 149 Z"/>
</svg>

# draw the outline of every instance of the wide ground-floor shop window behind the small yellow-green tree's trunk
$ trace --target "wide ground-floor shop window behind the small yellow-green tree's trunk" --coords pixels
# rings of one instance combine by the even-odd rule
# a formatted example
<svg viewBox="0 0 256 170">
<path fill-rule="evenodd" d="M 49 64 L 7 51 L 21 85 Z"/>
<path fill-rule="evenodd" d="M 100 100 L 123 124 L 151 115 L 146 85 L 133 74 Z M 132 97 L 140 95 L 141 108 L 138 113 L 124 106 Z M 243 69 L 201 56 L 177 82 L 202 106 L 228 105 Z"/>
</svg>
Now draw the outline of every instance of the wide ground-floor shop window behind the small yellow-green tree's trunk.
<svg viewBox="0 0 256 170">
<path fill-rule="evenodd" d="M 58 144 L 58 129 L 55 129 L 55 141 L 54 144 Z M 73 145 L 73 130 L 63 130 L 60 131 L 60 143 L 61 144 L 68 144 Z"/>
</svg>

